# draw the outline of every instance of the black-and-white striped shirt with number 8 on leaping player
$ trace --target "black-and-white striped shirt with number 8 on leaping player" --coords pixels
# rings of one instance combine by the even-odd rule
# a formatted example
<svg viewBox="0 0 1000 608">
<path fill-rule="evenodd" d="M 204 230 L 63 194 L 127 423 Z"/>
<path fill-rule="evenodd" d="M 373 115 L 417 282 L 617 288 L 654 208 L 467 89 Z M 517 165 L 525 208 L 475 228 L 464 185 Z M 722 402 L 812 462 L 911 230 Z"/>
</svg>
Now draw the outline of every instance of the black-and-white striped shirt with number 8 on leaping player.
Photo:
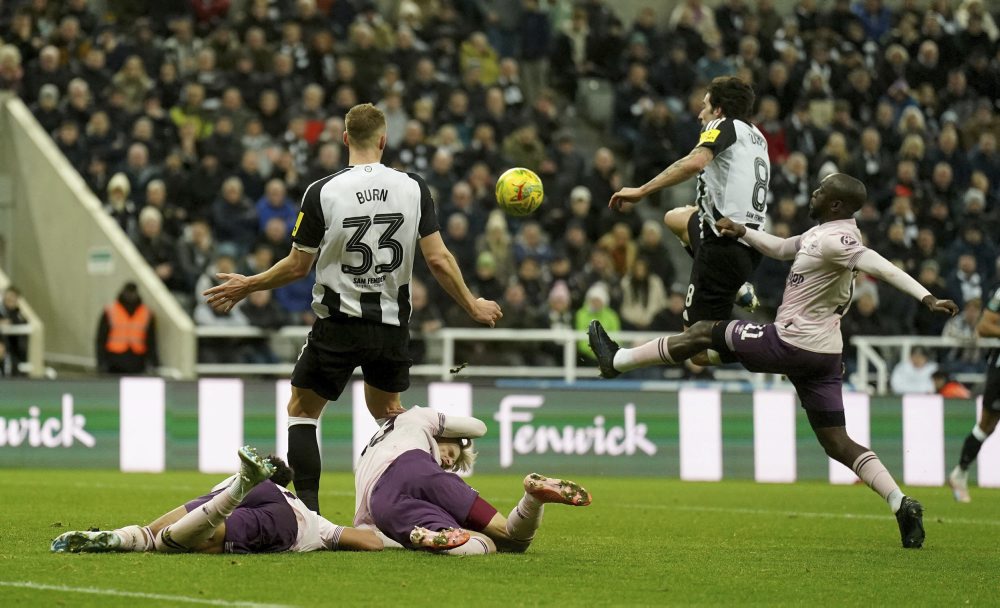
<svg viewBox="0 0 1000 608">
<path fill-rule="evenodd" d="M 767 217 L 771 162 L 767 140 L 752 124 L 731 118 L 709 122 L 698 145 L 714 154 L 698 174 L 697 205 L 702 230 L 713 234 L 715 222 L 728 217 L 748 228 L 759 228 Z"/>
</svg>

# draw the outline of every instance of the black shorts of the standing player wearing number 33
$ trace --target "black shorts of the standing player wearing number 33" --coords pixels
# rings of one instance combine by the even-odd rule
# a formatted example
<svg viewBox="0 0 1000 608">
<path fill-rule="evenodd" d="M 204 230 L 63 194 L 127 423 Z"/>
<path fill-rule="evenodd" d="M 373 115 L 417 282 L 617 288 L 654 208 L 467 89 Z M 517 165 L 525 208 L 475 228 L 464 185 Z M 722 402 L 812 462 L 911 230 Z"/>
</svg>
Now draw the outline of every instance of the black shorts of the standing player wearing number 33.
<svg viewBox="0 0 1000 608">
<path fill-rule="evenodd" d="M 367 384 L 401 393 L 410 387 L 409 346 L 406 327 L 353 318 L 317 319 L 295 362 L 292 386 L 336 401 L 360 365 Z"/>
</svg>

